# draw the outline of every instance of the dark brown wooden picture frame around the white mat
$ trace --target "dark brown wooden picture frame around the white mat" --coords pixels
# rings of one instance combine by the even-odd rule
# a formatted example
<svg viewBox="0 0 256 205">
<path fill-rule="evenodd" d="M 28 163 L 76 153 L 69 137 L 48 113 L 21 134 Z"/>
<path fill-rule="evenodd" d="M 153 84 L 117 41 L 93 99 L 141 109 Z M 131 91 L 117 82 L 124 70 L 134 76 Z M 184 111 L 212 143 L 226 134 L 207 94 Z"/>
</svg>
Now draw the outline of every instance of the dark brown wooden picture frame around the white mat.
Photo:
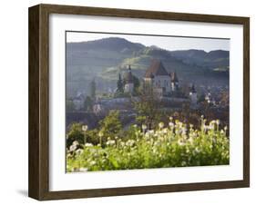
<svg viewBox="0 0 256 205">
<path fill-rule="evenodd" d="M 243 25 L 243 180 L 164 184 L 93 190 L 49 190 L 49 15 L 99 15 Z M 59 200 L 146 194 L 184 190 L 213 190 L 250 186 L 250 18 L 192 15 L 69 5 L 29 8 L 29 181 L 28 195 L 36 200 Z"/>
</svg>

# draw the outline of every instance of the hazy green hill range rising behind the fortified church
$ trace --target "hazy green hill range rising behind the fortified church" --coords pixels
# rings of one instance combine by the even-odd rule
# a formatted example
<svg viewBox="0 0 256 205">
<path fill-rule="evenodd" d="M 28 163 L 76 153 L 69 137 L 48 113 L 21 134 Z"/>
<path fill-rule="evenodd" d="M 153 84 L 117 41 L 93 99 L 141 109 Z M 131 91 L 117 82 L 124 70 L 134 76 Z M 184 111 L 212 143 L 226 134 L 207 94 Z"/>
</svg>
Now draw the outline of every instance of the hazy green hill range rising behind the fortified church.
<svg viewBox="0 0 256 205">
<path fill-rule="evenodd" d="M 168 51 L 117 37 L 67 43 L 67 95 L 87 92 L 93 78 L 101 90 L 114 88 L 118 73 L 126 72 L 128 64 L 132 73 L 142 78 L 154 58 L 159 59 L 168 72 L 176 71 L 183 82 L 227 78 L 229 69 L 228 51 Z"/>
</svg>

